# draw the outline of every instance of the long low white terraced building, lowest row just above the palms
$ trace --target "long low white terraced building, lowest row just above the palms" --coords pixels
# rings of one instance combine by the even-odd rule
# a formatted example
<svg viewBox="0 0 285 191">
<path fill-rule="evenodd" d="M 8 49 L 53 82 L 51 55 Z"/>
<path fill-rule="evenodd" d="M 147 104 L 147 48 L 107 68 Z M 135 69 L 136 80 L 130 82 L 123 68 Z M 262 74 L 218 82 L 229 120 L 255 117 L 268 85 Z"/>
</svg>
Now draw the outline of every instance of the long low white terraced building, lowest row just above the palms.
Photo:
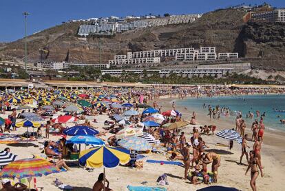
<svg viewBox="0 0 285 191">
<path fill-rule="evenodd" d="M 101 70 L 102 74 L 110 74 L 112 76 L 120 77 L 123 72 L 142 74 L 144 70 Z M 223 77 L 226 73 L 233 72 L 233 68 L 164 68 L 160 70 L 146 70 L 149 74 L 158 72 L 160 77 L 168 77 L 171 73 L 178 74 L 182 77 L 193 77 L 193 76 L 212 76 L 212 77 Z"/>
</svg>

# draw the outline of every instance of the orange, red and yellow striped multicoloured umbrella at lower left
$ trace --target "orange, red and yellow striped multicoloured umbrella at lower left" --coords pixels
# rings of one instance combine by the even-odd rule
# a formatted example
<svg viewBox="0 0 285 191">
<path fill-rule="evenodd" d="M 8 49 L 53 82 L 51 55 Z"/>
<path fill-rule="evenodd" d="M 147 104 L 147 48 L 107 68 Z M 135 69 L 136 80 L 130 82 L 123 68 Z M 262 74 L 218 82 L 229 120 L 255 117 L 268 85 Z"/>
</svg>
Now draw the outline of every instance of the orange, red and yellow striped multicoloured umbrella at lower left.
<svg viewBox="0 0 285 191">
<path fill-rule="evenodd" d="M 41 177 L 60 172 L 56 166 L 45 159 L 21 159 L 6 165 L 0 172 L 2 178 L 23 179 Z"/>
</svg>

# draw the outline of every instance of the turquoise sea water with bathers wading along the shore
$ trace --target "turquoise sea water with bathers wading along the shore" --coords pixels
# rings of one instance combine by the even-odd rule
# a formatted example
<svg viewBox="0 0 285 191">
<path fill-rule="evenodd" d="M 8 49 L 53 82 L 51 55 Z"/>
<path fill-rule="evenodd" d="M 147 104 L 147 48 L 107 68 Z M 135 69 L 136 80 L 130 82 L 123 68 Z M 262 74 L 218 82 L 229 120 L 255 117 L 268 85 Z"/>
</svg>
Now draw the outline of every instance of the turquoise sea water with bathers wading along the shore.
<svg viewBox="0 0 285 191">
<path fill-rule="evenodd" d="M 176 100 L 176 104 L 183 107 L 195 108 L 197 111 L 208 114 L 208 107 L 202 108 L 203 104 L 206 105 L 220 105 L 220 107 L 226 107 L 231 109 L 231 116 L 225 117 L 220 115 L 220 119 L 231 119 L 234 121 L 236 112 L 241 111 L 243 119 L 247 123 L 252 123 L 254 119 L 257 119 L 255 111 L 260 111 L 260 114 L 266 112 L 264 117 L 264 124 L 266 128 L 271 130 L 285 131 L 285 124 L 280 123 L 280 119 L 285 119 L 285 112 L 275 112 L 277 110 L 285 111 L 285 95 L 245 95 L 245 96 L 224 96 L 224 97 L 201 97 L 201 98 L 189 98 L 184 100 Z M 248 112 L 253 112 L 253 119 L 246 118 Z M 279 117 L 277 117 L 279 115 Z M 260 117 L 258 118 L 260 121 Z"/>
</svg>

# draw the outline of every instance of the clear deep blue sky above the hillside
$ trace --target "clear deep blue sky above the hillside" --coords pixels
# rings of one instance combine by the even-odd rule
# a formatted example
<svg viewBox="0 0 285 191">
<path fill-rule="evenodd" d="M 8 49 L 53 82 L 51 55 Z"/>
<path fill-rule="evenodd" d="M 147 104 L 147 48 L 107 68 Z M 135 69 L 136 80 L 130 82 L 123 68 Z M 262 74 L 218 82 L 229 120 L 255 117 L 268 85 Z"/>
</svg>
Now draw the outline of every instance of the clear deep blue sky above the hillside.
<svg viewBox="0 0 285 191">
<path fill-rule="evenodd" d="M 239 0 L 0 0 L 0 42 L 23 38 L 24 17 L 28 16 L 28 34 L 39 32 L 70 19 L 125 17 L 145 14 L 204 13 L 218 8 L 261 4 L 263 1 Z M 268 0 L 272 6 L 285 8 L 285 0 Z"/>
</svg>

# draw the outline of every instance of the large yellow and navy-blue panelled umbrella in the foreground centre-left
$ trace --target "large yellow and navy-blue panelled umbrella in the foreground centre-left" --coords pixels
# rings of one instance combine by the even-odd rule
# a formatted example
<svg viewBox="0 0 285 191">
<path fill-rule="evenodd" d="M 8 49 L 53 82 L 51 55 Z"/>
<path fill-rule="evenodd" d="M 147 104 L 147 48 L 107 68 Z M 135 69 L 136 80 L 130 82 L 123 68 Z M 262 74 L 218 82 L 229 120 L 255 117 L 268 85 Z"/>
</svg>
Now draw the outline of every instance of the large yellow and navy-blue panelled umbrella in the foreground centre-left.
<svg viewBox="0 0 285 191">
<path fill-rule="evenodd" d="M 129 150 L 101 146 L 83 150 L 79 154 L 79 163 L 90 168 L 115 168 L 119 164 L 126 164 L 130 160 Z"/>
</svg>

